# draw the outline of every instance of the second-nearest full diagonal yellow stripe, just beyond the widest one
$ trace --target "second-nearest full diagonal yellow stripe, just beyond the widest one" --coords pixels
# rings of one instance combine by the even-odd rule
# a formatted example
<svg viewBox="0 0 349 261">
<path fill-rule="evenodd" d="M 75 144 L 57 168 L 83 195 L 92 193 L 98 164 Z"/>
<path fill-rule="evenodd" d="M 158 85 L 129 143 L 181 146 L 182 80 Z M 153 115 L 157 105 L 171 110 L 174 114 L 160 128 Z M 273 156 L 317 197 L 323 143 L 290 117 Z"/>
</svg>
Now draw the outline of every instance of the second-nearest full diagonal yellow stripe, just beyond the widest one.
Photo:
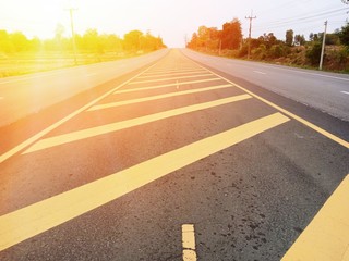
<svg viewBox="0 0 349 261">
<path fill-rule="evenodd" d="M 208 108 L 224 105 L 224 104 L 228 104 L 231 102 L 245 100 L 245 99 L 250 99 L 250 98 L 251 98 L 251 96 L 249 96 L 249 95 L 234 96 L 234 97 L 229 97 L 229 98 L 219 99 L 219 100 L 215 100 L 215 101 L 203 102 L 203 103 L 198 103 L 198 104 L 194 104 L 194 105 L 178 108 L 174 110 L 164 111 L 164 112 L 155 113 L 152 115 L 131 119 L 131 120 L 127 120 L 123 122 L 117 122 L 117 123 L 111 123 L 111 124 L 107 124 L 107 125 L 103 125 L 103 126 L 98 126 L 98 127 L 93 127 L 93 128 L 77 130 L 77 132 L 73 132 L 73 133 L 69 133 L 69 134 L 63 134 L 63 135 L 59 135 L 59 136 L 55 136 L 55 137 L 50 137 L 50 138 L 46 138 L 46 139 L 40 139 L 36 144 L 34 144 L 32 147 L 29 147 L 26 151 L 24 151 L 23 153 L 29 153 L 29 152 L 34 152 L 37 150 L 43 150 L 46 148 L 50 148 L 50 147 L 55 147 L 55 146 L 85 139 L 85 138 L 91 138 L 91 137 L 108 134 L 111 132 L 117 132 L 117 130 L 124 129 L 124 128 L 134 127 L 137 125 L 164 120 L 164 119 L 171 117 L 171 116 L 178 116 L 178 115 L 182 115 L 182 114 L 194 112 L 194 111 L 200 111 L 200 110 L 205 110 Z"/>
</svg>

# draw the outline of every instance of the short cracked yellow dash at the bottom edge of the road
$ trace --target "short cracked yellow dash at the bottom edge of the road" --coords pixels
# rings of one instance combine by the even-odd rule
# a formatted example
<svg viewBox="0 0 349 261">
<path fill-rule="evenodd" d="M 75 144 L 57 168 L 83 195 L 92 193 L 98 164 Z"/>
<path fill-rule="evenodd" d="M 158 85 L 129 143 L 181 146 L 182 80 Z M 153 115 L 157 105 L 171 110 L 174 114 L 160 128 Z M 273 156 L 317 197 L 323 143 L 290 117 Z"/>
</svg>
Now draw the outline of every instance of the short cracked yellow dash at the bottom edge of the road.
<svg viewBox="0 0 349 261">
<path fill-rule="evenodd" d="M 182 225 L 183 261 L 196 261 L 195 231 L 193 224 Z"/>
</svg>

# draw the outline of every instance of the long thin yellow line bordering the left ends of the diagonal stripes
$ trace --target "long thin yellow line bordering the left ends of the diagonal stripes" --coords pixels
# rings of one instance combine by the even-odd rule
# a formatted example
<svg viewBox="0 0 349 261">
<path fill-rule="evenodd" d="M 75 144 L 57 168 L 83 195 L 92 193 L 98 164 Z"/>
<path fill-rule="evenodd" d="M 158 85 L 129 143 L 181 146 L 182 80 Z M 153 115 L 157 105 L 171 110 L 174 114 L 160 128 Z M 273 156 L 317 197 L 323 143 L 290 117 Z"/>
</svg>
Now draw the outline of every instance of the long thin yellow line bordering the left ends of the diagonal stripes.
<svg viewBox="0 0 349 261">
<path fill-rule="evenodd" d="M 161 61 L 159 61 L 161 62 Z M 159 62 L 153 64 L 152 66 L 147 67 L 146 70 L 144 70 L 143 72 L 139 73 L 137 75 L 133 76 L 132 78 L 128 79 L 127 82 L 118 85 L 117 87 L 115 87 L 113 89 L 107 91 L 106 94 L 101 95 L 100 97 L 98 97 L 97 99 L 88 102 L 86 105 L 80 108 L 79 110 L 72 112 L 71 114 L 69 114 L 68 116 L 63 117 L 62 120 L 56 122 L 55 124 L 50 125 L 49 127 L 43 129 L 41 132 L 37 133 L 36 135 L 34 135 L 33 137 L 26 139 L 25 141 L 23 141 L 22 144 L 17 145 L 16 147 L 12 148 L 11 150 L 7 151 L 5 153 L 0 156 L 0 163 L 5 161 L 7 159 L 11 158 L 12 156 L 14 156 L 15 153 L 20 152 L 21 150 L 25 149 L 26 147 L 28 147 L 29 145 L 34 144 L 36 140 L 40 139 L 43 136 L 47 135 L 48 133 L 50 133 L 51 130 L 53 130 L 55 128 L 57 128 L 58 126 L 62 125 L 63 123 L 68 122 L 69 120 L 71 120 L 72 117 L 76 116 L 77 114 L 80 114 L 81 112 L 85 111 L 86 109 L 88 109 L 89 107 L 92 107 L 93 104 L 95 104 L 96 102 L 103 100 L 104 98 L 106 98 L 109 95 L 112 95 L 117 89 L 123 87 L 124 85 L 129 84 L 131 80 L 135 79 L 136 77 L 139 77 L 141 74 L 143 74 L 144 72 L 151 70 L 152 67 L 156 66 Z"/>
</svg>

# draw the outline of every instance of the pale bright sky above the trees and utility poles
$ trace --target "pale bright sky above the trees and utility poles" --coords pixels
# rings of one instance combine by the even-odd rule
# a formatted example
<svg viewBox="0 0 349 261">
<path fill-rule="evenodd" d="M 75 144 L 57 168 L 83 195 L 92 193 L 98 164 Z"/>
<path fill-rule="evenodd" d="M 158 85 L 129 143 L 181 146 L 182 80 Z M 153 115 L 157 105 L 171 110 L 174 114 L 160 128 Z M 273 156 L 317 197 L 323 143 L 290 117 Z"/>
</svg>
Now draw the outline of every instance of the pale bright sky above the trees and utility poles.
<svg viewBox="0 0 349 261">
<path fill-rule="evenodd" d="M 0 0 L 0 29 L 20 30 L 27 37 L 52 38 L 58 24 L 71 36 L 69 9 L 73 7 L 75 33 L 88 28 L 120 37 L 139 29 L 160 36 L 168 47 L 184 47 L 198 26 L 221 26 L 237 17 L 242 34 L 252 37 L 274 33 L 285 40 L 286 30 L 304 35 L 333 33 L 349 21 L 349 4 L 341 0 Z M 252 15 L 251 15 L 252 13 Z"/>
</svg>

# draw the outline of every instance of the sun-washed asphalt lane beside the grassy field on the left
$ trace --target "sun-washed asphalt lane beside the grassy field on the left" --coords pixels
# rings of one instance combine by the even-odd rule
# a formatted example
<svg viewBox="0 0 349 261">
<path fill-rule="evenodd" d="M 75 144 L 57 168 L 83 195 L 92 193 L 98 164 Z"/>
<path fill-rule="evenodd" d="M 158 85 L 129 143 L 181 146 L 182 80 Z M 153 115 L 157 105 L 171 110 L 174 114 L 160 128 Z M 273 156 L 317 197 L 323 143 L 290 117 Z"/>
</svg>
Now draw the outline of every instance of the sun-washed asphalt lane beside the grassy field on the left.
<svg viewBox="0 0 349 261">
<path fill-rule="evenodd" d="M 167 51 L 163 49 L 115 62 L 0 78 L 0 126 L 140 69 L 164 57 Z"/>
</svg>

